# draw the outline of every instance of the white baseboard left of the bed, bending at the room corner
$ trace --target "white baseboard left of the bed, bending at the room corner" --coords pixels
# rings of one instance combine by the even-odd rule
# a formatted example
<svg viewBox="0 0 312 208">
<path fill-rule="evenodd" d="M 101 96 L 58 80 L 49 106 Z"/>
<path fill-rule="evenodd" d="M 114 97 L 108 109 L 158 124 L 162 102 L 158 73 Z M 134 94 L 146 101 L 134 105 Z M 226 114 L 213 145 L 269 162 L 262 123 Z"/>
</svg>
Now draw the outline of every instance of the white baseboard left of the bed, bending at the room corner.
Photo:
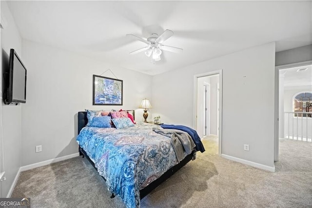
<svg viewBox="0 0 312 208">
<path fill-rule="evenodd" d="M 7 198 L 11 197 L 13 189 L 14 189 L 14 187 L 15 187 L 18 179 L 19 179 L 21 171 L 30 170 L 30 169 L 33 169 L 33 168 L 36 168 L 36 167 L 50 165 L 52 163 L 57 163 L 59 161 L 67 160 L 67 159 L 70 159 L 70 158 L 73 158 L 73 157 L 78 157 L 78 156 L 79 156 L 79 152 L 71 154 L 71 155 L 66 155 L 66 156 L 54 158 L 54 159 L 51 159 L 51 160 L 42 161 L 42 162 L 39 162 L 39 163 L 34 163 L 34 164 L 31 164 L 31 165 L 28 165 L 28 166 L 21 166 L 19 171 L 18 171 L 18 173 L 15 176 L 15 179 L 14 179 L 14 181 L 12 183 L 12 186 L 11 186 L 11 188 L 10 188 L 10 190 L 9 190 L 9 192 L 8 192 L 6 197 Z"/>
</svg>

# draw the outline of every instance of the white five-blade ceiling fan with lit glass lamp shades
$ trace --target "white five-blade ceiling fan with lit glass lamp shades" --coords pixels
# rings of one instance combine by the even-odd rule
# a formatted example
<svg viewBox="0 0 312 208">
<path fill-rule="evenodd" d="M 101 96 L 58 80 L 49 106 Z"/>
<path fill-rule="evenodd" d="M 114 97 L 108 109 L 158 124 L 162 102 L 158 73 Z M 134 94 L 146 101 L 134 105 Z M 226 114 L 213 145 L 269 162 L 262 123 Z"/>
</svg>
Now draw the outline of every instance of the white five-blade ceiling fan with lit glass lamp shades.
<svg viewBox="0 0 312 208">
<path fill-rule="evenodd" d="M 130 52 L 130 54 L 137 54 L 140 52 L 145 51 L 145 55 L 152 58 L 152 62 L 160 61 L 160 55 L 162 54 L 162 50 L 170 51 L 174 53 L 182 53 L 182 48 L 177 48 L 173 46 L 163 45 L 162 43 L 169 39 L 171 36 L 174 35 L 172 30 L 165 30 L 160 36 L 156 33 L 152 33 L 152 35 L 147 39 L 142 39 L 133 34 L 127 34 L 126 36 L 130 36 L 135 38 L 137 41 L 144 42 L 147 46 L 137 49 L 135 51 Z"/>
</svg>

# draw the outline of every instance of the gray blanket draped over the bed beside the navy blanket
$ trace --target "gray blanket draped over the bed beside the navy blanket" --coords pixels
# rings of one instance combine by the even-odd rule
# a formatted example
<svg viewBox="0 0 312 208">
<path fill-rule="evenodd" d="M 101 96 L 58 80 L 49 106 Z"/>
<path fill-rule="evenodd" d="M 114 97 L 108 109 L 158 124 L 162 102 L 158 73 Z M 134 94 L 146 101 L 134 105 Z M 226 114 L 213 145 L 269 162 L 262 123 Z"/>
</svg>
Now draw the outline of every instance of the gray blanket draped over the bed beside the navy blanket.
<svg viewBox="0 0 312 208">
<path fill-rule="evenodd" d="M 193 142 L 192 137 L 184 131 L 163 128 L 153 128 L 153 131 L 171 138 L 171 143 L 176 152 L 178 162 L 183 160 L 186 155 L 191 154 L 192 150 L 195 148 L 195 143 Z"/>
</svg>

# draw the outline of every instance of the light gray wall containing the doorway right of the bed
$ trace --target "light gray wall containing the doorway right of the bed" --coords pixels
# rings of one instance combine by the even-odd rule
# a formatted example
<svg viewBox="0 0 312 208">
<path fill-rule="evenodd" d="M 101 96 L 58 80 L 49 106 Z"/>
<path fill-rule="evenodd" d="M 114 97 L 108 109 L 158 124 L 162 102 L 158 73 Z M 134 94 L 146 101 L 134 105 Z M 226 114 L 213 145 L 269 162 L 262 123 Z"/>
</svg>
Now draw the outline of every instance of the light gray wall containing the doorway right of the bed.
<svg viewBox="0 0 312 208">
<path fill-rule="evenodd" d="M 193 126 L 194 75 L 222 69 L 222 154 L 273 168 L 274 63 L 268 43 L 156 75 L 153 110 L 167 123 Z"/>
</svg>

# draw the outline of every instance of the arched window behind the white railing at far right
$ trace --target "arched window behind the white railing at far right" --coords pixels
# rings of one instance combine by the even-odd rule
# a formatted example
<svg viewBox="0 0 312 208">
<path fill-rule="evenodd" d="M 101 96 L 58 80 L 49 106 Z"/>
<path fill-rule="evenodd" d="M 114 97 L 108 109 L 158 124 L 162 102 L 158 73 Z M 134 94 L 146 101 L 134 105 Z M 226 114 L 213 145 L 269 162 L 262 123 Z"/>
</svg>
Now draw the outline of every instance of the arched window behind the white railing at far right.
<svg viewBox="0 0 312 208">
<path fill-rule="evenodd" d="M 312 93 L 303 92 L 296 95 L 293 99 L 294 112 L 312 112 Z M 295 113 L 294 117 L 310 117 L 311 113 Z"/>
</svg>

